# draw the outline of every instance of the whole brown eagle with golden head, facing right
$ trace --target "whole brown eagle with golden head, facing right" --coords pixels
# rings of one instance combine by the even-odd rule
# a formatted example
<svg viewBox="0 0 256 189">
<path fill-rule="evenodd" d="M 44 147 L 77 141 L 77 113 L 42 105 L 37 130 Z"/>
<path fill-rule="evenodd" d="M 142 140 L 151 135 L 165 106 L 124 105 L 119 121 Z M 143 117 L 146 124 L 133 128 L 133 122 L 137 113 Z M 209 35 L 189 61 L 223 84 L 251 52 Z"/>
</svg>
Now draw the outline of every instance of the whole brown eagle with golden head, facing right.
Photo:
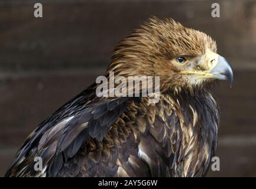
<svg viewBox="0 0 256 189">
<path fill-rule="evenodd" d="M 119 41 L 105 76 L 158 76 L 158 102 L 151 93 L 99 96 L 95 82 L 38 125 L 5 177 L 205 176 L 219 128 L 211 89 L 233 82 L 216 51 L 204 32 L 149 18 Z"/>
</svg>

